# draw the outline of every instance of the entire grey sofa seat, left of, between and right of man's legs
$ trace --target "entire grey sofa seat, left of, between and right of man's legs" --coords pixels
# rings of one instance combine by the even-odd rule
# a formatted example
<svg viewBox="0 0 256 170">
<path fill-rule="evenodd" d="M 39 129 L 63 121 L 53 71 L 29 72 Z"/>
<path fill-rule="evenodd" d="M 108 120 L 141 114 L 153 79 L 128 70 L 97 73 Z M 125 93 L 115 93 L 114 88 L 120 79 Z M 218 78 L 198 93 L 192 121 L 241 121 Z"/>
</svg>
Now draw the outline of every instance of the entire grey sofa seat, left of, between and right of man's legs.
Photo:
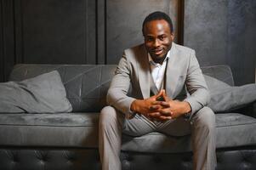
<svg viewBox="0 0 256 170">
<path fill-rule="evenodd" d="M 0 144 L 98 147 L 99 113 L 0 114 Z M 256 119 L 238 113 L 216 115 L 217 148 L 256 144 Z M 249 133 L 248 133 L 249 132 Z M 191 151 L 191 135 L 122 135 L 122 150 L 156 153 Z"/>
</svg>

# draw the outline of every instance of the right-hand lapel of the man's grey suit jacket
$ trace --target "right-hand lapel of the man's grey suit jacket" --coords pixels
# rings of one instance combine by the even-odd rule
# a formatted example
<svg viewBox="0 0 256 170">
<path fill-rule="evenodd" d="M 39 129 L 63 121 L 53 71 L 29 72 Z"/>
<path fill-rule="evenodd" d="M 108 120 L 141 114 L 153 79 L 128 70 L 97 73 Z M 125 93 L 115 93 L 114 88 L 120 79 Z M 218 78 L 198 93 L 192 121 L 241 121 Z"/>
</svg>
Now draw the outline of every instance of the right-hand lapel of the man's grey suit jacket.
<svg viewBox="0 0 256 170">
<path fill-rule="evenodd" d="M 174 98 L 175 88 L 179 81 L 179 65 L 177 65 L 177 49 L 175 46 L 173 42 L 166 71 L 166 92 L 171 98 Z"/>
</svg>

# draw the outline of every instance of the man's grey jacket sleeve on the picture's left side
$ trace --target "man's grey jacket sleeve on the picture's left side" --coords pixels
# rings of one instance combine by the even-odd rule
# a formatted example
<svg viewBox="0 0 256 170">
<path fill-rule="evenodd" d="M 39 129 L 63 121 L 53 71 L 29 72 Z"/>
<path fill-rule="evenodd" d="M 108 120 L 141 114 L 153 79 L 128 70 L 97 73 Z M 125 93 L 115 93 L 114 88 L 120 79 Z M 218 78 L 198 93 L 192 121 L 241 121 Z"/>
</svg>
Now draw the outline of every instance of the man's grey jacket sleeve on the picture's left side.
<svg viewBox="0 0 256 170">
<path fill-rule="evenodd" d="M 130 74 L 128 59 L 125 54 L 122 54 L 106 96 L 107 104 L 114 106 L 118 111 L 124 113 L 127 118 L 134 116 L 134 113 L 130 111 L 130 105 L 135 99 L 128 96 L 128 89 L 131 84 Z"/>
</svg>

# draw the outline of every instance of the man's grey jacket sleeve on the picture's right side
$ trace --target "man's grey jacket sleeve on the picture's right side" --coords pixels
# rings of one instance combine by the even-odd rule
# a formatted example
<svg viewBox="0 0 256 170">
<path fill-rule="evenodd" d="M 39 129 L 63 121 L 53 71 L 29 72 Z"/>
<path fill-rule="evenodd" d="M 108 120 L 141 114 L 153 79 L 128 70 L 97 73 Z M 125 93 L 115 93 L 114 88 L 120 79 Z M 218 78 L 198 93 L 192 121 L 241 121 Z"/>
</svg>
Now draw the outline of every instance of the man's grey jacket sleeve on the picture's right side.
<svg viewBox="0 0 256 170">
<path fill-rule="evenodd" d="M 202 75 L 194 50 L 192 50 L 190 54 L 185 85 L 190 94 L 185 101 L 191 105 L 192 116 L 196 111 L 202 109 L 203 106 L 208 105 L 210 100 L 208 87 Z"/>
</svg>

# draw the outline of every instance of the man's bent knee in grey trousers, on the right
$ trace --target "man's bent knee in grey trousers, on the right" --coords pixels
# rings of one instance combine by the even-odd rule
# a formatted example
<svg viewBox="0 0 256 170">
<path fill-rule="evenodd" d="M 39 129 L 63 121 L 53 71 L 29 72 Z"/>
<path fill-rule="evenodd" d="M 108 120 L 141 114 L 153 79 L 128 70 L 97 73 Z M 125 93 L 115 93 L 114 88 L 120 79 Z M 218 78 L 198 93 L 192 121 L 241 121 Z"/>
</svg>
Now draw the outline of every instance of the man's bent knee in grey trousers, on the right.
<svg viewBox="0 0 256 170">
<path fill-rule="evenodd" d="M 196 125 L 207 127 L 209 130 L 215 129 L 215 114 L 209 107 L 203 107 L 196 113 Z"/>
</svg>

